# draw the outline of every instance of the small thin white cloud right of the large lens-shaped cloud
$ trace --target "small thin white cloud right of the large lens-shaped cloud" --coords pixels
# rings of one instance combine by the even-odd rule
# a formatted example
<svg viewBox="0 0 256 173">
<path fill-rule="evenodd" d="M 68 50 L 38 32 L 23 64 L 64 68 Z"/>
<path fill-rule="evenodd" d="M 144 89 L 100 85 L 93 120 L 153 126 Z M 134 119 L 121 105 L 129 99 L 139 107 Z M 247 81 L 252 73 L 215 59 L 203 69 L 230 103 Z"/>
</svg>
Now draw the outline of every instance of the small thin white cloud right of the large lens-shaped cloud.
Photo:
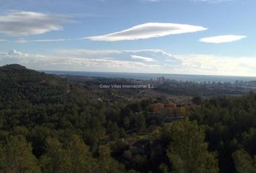
<svg viewBox="0 0 256 173">
<path fill-rule="evenodd" d="M 215 37 L 203 37 L 199 41 L 205 43 L 229 43 L 237 40 L 242 40 L 245 35 L 219 35 Z"/>
</svg>

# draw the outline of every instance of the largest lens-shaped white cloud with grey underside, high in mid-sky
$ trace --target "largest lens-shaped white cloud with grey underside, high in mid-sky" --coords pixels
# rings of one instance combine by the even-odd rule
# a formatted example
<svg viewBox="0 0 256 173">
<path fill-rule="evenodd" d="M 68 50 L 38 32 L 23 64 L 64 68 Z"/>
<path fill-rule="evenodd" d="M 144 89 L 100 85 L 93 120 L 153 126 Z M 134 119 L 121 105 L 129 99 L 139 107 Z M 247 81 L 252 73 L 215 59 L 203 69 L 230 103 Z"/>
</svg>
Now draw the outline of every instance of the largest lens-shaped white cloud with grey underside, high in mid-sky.
<svg viewBox="0 0 256 173">
<path fill-rule="evenodd" d="M 97 41 L 138 40 L 188 32 L 198 32 L 202 30 L 207 30 L 207 28 L 195 25 L 182 25 L 174 23 L 145 23 L 142 25 L 136 25 L 135 27 L 131 27 L 127 30 L 122 30 L 120 32 L 114 32 L 107 35 L 85 37 L 85 39 Z"/>
</svg>

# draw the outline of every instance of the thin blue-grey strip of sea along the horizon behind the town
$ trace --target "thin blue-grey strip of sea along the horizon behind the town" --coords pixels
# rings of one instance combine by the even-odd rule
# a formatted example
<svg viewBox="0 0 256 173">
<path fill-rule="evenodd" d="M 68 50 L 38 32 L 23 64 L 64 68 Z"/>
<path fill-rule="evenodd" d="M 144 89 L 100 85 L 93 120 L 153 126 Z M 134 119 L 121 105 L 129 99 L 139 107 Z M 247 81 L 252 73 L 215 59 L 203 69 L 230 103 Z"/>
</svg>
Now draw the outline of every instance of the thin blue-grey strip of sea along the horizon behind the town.
<svg viewBox="0 0 256 173">
<path fill-rule="evenodd" d="M 213 76 L 213 75 L 190 75 L 190 74 L 142 74 L 142 73 L 119 73 L 119 72 L 92 72 L 92 71 L 43 71 L 46 74 L 72 75 L 72 76 L 92 76 L 103 78 L 124 78 L 140 80 L 156 80 L 158 77 L 176 81 L 195 82 L 231 82 L 235 81 L 256 81 L 255 77 L 249 76 Z"/>
</svg>

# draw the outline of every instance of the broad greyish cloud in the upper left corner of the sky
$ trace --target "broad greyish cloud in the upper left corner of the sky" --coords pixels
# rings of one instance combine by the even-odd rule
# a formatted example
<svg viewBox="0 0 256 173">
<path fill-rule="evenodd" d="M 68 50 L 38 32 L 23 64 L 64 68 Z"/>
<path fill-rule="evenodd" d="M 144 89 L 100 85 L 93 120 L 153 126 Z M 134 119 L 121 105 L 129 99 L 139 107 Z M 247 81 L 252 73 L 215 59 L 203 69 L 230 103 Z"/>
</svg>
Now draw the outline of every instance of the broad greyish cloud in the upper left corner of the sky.
<svg viewBox="0 0 256 173">
<path fill-rule="evenodd" d="M 38 12 L 10 12 L 0 16 L 0 33 L 10 36 L 38 35 L 62 30 L 61 24 L 72 22 L 68 17 Z"/>
</svg>

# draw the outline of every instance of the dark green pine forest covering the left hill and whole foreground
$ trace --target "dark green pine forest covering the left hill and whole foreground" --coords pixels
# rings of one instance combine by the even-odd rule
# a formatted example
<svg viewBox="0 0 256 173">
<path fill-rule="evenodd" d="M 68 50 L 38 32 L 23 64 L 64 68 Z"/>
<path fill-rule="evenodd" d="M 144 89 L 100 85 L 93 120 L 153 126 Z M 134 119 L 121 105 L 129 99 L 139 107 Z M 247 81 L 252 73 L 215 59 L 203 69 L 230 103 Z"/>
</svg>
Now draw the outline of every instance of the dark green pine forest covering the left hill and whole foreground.
<svg viewBox="0 0 256 173">
<path fill-rule="evenodd" d="M 108 90 L 98 96 L 90 85 L 0 67 L 0 172 L 256 170 L 253 93 L 197 97 L 187 117 L 172 123 L 152 116 L 159 98 L 116 102 Z"/>
</svg>

